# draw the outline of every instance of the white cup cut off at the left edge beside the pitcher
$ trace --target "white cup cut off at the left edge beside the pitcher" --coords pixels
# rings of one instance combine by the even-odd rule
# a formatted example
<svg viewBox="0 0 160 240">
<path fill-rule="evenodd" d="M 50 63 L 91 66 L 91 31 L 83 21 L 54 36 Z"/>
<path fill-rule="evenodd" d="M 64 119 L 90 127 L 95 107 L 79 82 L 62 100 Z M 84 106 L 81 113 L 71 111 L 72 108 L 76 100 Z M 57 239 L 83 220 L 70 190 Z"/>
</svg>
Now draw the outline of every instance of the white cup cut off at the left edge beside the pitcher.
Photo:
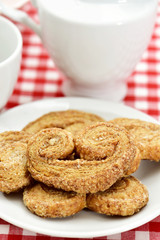
<svg viewBox="0 0 160 240">
<path fill-rule="evenodd" d="M 18 28 L 0 16 L 0 109 L 11 96 L 21 63 L 22 37 Z"/>
</svg>

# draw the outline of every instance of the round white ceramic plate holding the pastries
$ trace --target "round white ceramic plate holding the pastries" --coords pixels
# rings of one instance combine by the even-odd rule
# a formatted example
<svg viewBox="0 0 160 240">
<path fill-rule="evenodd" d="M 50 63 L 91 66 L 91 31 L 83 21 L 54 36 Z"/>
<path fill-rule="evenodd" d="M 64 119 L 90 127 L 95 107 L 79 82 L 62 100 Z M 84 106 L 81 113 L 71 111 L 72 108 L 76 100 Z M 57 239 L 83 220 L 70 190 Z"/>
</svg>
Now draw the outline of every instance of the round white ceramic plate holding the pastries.
<svg viewBox="0 0 160 240">
<path fill-rule="evenodd" d="M 21 105 L 3 113 L 0 115 L 0 132 L 20 130 L 42 114 L 70 108 L 93 112 L 107 120 L 128 117 L 156 123 L 153 118 L 123 104 L 87 98 L 56 98 Z M 30 231 L 56 237 L 89 238 L 124 232 L 160 214 L 160 164 L 142 161 L 134 175 L 147 186 L 150 200 L 146 207 L 131 217 L 107 217 L 83 210 L 65 219 L 43 219 L 27 210 L 21 194 L 2 193 L 0 193 L 0 217 Z"/>
</svg>

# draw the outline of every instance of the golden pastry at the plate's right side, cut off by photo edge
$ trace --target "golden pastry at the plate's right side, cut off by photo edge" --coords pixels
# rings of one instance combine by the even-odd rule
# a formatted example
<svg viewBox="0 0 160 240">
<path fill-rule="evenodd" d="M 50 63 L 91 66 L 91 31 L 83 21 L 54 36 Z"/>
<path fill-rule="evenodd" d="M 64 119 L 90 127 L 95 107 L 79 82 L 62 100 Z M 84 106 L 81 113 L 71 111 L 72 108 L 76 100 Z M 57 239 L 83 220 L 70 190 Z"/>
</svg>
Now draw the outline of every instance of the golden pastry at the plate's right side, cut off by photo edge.
<svg viewBox="0 0 160 240">
<path fill-rule="evenodd" d="M 128 118 L 116 118 L 110 122 L 125 127 L 135 137 L 142 159 L 160 160 L 160 125 Z"/>
</svg>

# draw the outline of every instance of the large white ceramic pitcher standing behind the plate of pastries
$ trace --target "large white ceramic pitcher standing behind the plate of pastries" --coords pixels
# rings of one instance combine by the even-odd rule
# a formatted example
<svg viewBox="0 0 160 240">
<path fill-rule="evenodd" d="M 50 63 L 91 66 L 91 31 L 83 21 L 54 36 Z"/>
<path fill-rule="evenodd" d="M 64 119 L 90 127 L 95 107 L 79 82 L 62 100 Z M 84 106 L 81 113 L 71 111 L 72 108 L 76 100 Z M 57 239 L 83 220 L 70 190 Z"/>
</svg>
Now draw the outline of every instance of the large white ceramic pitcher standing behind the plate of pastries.
<svg viewBox="0 0 160 240">
<path fill-rule="evenodd" d="M 42 39 L 67 80 L 66 95 L 119 101 L 146 49 L 157 0 L 32 0 L 40 25 L 18 19 Z"/>
</svg>

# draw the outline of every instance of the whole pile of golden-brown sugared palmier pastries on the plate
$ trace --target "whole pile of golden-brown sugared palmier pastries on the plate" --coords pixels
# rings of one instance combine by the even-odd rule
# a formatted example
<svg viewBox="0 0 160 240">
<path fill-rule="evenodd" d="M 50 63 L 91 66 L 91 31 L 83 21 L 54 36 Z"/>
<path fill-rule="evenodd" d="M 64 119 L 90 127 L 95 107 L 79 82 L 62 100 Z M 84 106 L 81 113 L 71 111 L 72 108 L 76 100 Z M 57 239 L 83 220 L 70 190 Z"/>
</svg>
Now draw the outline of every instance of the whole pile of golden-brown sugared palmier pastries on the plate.
<svg viewBox="0 0 160 240">
<path fill-rule="evenodd" d="M 156 124 L 107 122 L 77 110 L 45 114 L 22 131 L 0 134 L 0 191 L 24 189 L 24 204 L 41 217 L 67 217 L 86 207 L 133 215 L 149 197 L 131 174 L 142 159 L 159 161 L 159 131 Z"/>
</svg>

